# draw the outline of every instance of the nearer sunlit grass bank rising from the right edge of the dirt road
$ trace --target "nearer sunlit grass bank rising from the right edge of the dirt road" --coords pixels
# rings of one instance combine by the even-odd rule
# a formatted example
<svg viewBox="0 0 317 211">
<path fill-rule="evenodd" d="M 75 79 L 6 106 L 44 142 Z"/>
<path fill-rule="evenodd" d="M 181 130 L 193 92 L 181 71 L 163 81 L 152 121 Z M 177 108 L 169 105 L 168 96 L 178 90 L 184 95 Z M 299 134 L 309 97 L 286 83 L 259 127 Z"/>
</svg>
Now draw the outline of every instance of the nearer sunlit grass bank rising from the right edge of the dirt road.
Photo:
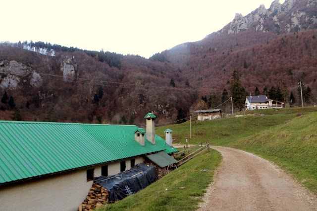
<svg viewBox="0 0 317 211">
<path fill-rule="evenodd" d="M 317 112 L 228 144 L 275 162 L 317 193 Z"/>
</svg>

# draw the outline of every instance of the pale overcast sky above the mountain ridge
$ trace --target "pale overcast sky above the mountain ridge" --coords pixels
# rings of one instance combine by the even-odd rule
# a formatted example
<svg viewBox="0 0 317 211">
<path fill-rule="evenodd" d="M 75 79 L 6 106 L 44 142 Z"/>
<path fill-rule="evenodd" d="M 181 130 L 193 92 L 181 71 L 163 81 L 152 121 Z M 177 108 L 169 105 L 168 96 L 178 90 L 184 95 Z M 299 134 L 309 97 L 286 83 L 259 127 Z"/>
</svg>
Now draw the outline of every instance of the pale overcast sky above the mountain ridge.
<svg viewBox="0 0 317 211">
<path fill-rule="evenodd" d="M 42 41 L 149 58 L 202 40 L 273 0 L 4 0 L 0 42 Z M 280 0 L 283 3 L 285 0 Z"/>
</svg>

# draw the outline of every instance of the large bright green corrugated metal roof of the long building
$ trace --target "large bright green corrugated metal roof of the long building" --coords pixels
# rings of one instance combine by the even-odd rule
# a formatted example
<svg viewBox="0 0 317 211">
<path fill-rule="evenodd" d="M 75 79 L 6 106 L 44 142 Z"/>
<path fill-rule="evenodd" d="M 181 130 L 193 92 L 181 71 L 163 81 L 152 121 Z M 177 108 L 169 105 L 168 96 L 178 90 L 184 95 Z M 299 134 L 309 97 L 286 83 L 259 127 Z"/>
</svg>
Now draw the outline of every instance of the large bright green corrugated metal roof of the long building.
<svg viewBox="0 0 317 211">
<path fill-rule="evenodd" d="M 134 140 L 137 129 L 123 125 L 0 121 L 0 184 L 170 151 L 159 136 L 156 145 L 146 140 L 145 146 L 140 146 Z"/>
</svg>

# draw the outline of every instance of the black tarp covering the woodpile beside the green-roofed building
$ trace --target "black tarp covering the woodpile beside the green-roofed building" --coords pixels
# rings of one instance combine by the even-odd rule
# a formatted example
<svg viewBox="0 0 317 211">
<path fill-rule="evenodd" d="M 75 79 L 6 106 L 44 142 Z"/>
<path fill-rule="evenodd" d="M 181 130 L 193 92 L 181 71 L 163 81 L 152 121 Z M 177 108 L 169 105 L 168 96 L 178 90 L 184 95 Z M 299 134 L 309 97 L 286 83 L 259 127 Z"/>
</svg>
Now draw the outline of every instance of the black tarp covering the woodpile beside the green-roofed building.
<svg viewBox="0 0 317 211">
<path fill-rule="evenodd" d="M 109 191 L 109 202 L 115 202 L 129 195 L 127 187 L 132 193 L 136 193 L 154 182 L 157 177 L 154 166 L 137 164 L 128 171 L 111 176 L 100 176 L 94 181 Z"/>
</svg>

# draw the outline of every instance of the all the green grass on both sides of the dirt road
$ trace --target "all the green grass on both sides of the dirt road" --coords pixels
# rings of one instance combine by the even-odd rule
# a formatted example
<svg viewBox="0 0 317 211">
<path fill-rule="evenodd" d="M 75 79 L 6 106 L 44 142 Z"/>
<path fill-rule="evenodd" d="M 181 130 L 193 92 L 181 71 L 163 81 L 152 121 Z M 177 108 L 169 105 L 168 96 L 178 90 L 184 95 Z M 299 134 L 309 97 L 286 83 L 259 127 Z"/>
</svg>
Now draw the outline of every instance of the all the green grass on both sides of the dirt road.
<svg viewBox="0 0 317 211">
<path fill-rule="evenodd" d="M 264 116 L 255 115 L 259 113 Z M 240 114 L 244 115 L 243 112 Z M 192 121 L 191 125 L 192 138 L 189 144 L 209 140 L 211 145 L 255 153 L 276 163 L 317 194 L 317 108 L 249 111 L 242 117 Z M 157 127 L 156 133 L 164 137 L 166 128 L 173 130 L 174 143 L 185 144 L 185 138 L 190 136 L 189 122 Z M 220 160 L 220 154 L 212 150 L 137 194 L 99 211 L 195 210 Z M 210 171 L 200 171 L 202 169 Z"/>
</svg>

